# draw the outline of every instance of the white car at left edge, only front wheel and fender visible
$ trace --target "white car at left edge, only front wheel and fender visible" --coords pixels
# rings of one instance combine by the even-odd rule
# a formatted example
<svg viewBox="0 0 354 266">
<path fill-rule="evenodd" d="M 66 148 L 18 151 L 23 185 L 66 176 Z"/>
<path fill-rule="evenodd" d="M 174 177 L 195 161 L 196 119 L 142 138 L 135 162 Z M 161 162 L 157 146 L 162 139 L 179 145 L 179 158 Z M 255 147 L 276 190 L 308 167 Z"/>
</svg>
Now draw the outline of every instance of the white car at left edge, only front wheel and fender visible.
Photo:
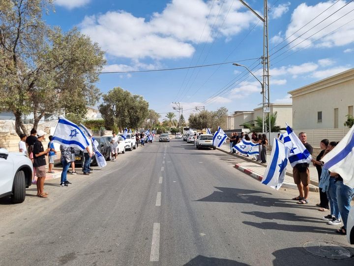
<svg viewBox="0 0 354 266">
<path fill-rule="evenodd" d="M 0 198 L 11 195 L 12 203 L 26 198 L 26 188 L 32 184 L 33 165 L 21 152 L 0 149 Z"/>
</svg>

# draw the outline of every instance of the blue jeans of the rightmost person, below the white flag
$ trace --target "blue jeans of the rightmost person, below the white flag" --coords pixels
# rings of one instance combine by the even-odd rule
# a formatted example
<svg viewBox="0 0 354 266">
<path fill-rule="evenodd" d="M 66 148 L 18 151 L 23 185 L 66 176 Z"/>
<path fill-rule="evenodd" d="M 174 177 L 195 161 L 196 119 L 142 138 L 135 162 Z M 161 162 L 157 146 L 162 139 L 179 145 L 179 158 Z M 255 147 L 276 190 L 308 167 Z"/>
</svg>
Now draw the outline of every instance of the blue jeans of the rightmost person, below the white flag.
<svg viewBox="0 0 354 266">
<path fill-rule="evenodd" d="M 348 214 L 351 208 L 350 203 L 354 196 L 354 189 L 343 184 L 343 181 L 337 181 L 337 200 L 339 212 L 342 215 L 344 229 L 347 230 Z"/>
</svg>

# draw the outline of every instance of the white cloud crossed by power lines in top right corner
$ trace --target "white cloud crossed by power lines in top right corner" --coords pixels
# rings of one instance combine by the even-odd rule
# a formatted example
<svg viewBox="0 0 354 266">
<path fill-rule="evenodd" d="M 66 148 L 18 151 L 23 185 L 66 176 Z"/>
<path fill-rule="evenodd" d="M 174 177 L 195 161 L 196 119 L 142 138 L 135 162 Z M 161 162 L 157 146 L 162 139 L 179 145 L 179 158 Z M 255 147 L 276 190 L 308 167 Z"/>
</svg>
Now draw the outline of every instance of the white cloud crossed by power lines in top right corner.
<svg viewBox="0 0 354 266">
<path fill-rule="evenodd" d="M 307 5 L 306 3 L 301 3 L 300 5 L 298 5 L 292 14 L 291 23 L 288 25 L 286 31 L 286 37 L 288 38 L 288 42 L 292 42 L 290 44 L 290 47 L 294 47 L 295 45 L 297 45 L 295 49 L 304 48 L 307 46 L 330 48 L 334 46 L 343 46 L 349 43 L 353 43 L 354 23 L 350 23 L 350 21 L 353 19 L 353 16 L 351 14 L 345 14 L 348 13 L 348 10 L 352 10 L 354 8 L 354 2 L 349 3 L 345 8 L 339 10 L 339 8 L 344 6 L 346 3 L 347 1 L 340 0 L 336 2 L 336 4 L 331 8 L 329 7 L 333 4 L 332 0 L 326 2 L 319 2 L 316 5 Z M 329 9 L 326 10 L 323 14 L 316 17 L 317 14 L 320 14 L 327 8 Z M 336 10 L 339 11 L 337 13 L 334 13 L 334 11 Z M 345 16 L 341 18 L 343 15 Z M 324 20 L 328 16 L 330 17 Z M 314 17 L 316 17 L 316 19 L 309 22 L 310 18 Z M 321 22 L 322 20 L 324 21 Z M 318 23 L 319 25 L 317 25 Z M 348 24 L 345 25 L 346 23 Z M 303 27 L 304 25 L 306 26 Z M 340 26 L 343 27 L 338 29 Z M 300 30 L 300 28 L 302 29 Z M 318 31 L 320 32 L 317 33 Z M 297 39 L 295 40 L 295 38 Z M 319 39 L 319 41 L 314 43 L 314 41 L 316 41 L 317 39 Z"/>
</svg>

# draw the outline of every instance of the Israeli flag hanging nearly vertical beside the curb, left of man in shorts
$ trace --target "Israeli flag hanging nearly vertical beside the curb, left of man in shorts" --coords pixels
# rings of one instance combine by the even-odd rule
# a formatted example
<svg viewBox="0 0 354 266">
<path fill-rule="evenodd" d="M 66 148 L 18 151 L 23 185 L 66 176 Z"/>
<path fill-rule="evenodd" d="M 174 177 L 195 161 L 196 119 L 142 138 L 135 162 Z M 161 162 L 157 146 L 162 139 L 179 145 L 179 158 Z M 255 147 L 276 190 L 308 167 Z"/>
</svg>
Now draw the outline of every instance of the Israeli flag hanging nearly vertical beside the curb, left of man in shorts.
<svg viewBox="0 0 354 266">
<path fill-rule="evenodd" d="M 267 165 L 266 171 L 262 178 L 262 184 L 270 186 L 273 189 L 279 190 L 283 185 L 287 159 L 288 148 L 284 143 L 274 137 L 273 149 L 271 151 L 270 164 Z"/>
</svg>

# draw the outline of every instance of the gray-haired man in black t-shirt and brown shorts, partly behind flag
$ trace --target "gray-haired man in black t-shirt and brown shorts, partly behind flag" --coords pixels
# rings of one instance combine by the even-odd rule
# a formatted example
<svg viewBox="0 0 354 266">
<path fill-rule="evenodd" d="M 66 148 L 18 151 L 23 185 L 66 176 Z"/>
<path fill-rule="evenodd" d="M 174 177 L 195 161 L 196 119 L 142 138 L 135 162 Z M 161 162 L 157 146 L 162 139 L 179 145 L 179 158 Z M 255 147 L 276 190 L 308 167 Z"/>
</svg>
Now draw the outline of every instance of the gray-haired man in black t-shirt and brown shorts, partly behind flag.
<svg viewBox="0 0 354 266">
<path fill-rule="evenodd" d="M 306 150 L 312 155 L 313 148 L 312 146 L 307 143 L 307 136 L 306 133 L 301 132 L 298 135 L 300 141 L 305 146 Z M 310 184 L 310 170 L 309 170 L 308 163 L 300 163 L 293 167 L 293 177 L 294 183 L 297 186 L 299 191 L 299 196 L 294 198 L 294 200 L 298 200 L 297 204 L 307 204 L 307 198 L 310 191 L 309 184 Z"/>
</svg>

